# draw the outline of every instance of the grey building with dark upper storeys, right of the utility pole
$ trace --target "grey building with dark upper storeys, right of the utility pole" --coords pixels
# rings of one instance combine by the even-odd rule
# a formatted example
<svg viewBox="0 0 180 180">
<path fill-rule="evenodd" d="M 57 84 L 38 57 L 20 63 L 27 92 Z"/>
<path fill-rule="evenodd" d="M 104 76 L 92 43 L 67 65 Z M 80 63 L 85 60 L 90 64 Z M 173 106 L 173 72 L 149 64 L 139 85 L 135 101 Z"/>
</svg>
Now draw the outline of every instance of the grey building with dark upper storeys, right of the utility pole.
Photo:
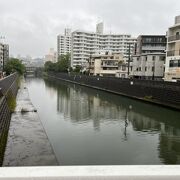
<svg viewBox="0 0 180 180">
<path fill-rule="evenodd" d="M 140 35 L 131 58 L 130 76 L 137 79 L 162 80 L 165 49 L 165 35 Z"/>
</svg>

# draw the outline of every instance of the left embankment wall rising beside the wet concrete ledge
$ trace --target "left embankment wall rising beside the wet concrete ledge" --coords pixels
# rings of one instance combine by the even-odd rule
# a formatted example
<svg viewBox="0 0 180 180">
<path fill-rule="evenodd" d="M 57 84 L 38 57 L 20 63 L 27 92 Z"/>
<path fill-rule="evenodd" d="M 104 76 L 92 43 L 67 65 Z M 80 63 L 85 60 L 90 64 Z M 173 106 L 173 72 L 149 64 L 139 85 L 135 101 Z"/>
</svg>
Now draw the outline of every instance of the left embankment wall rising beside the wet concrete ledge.
<svg viewBox="0 0 180 180">
<path fill-rule="evenodd" d="M 18 75 L 12 74 L 0 80 L 0 166 L 2 165 L 7 142 L 11 110 L 9 104 L 16 97 L 18 91 Z"/>
</svg>

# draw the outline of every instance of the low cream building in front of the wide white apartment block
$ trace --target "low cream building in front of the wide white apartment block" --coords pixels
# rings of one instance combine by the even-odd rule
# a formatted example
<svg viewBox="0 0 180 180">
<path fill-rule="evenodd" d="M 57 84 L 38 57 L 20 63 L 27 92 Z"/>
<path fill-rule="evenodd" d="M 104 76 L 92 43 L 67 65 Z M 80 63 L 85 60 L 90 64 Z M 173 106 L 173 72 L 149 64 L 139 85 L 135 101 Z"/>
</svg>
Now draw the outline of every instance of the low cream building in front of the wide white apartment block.
<svg viewBox="0 0 180 180">
<path fill-rule="evenodd" d="M 127 77 L 127 66 L 123 55 L 110 51 L 101 51 L 91 56 L 90 74 L 103 77 Z"/>
</svg>

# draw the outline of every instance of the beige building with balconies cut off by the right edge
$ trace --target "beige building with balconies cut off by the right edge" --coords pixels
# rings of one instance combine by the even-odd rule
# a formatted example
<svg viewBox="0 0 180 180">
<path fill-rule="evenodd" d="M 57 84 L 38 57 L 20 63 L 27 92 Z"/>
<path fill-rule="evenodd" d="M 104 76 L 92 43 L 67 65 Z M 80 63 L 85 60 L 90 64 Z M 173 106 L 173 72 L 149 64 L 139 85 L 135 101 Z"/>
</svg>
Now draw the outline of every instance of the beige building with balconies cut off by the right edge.
<svg viewBox="0 0 180 180">
<path fill-rule="evenodd" d="M 175 17 L 175 25 L 170 27 L 167 33 L 164 80 L 180 80 L 180 16 Z"/>
</svg>

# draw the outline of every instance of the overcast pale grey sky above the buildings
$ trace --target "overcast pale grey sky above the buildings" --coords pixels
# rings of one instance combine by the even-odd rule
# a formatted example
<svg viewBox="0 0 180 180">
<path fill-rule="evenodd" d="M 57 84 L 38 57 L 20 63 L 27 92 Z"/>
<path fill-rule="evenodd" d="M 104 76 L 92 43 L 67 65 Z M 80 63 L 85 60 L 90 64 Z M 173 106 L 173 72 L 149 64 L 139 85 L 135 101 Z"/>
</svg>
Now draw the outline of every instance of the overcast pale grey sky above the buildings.
<svg viewBox="0 0 180 180">
<path fill-rule="evenodd" d="M 56 49 L 64 28 L 105 32 L 165 34 L 180 15 L 180 0 L 0 0 L 0 36 L 10 54 L 42 57 Z"/>
</svg>

